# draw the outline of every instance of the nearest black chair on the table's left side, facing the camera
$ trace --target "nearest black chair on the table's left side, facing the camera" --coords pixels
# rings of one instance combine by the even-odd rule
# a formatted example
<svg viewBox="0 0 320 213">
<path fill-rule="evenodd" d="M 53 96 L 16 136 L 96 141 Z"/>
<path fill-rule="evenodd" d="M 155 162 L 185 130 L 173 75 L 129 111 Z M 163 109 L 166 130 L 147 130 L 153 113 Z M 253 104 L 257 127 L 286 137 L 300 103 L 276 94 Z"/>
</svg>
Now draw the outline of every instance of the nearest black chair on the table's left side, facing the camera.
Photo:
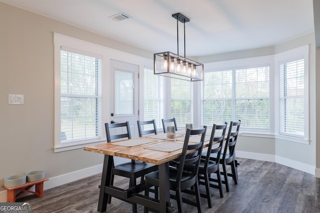
<svg viewBox="0 0 320 213">
<path fill-rule="evenodd" d="M 110 129 L 113 129 L 113 128 L 125 128 L 126 133 L 111 135 Z M 130 139 L 131 138 L 130 126 L 128 121 L 125 123 L 113 123 L 113 124 L 105 123 L 105 133 L 106 133 L 107 143 L 110 143 L 111 140 L 114 140 L 114 139 L 124 139 L 124 138 Z M 157 167 L 154 164 L 135 161 L 135 160 L 131 160 L 131 162 L 122 163 L 116 166 L 114 166 L 113 164 L 110 185 L 113 186 L 114 175 L 118 175 L 118 176 L 129 178 L 130 179 L 129 187 L 132 187 L 136 185 L 136 178 L 141 177 L 141 182 L 142 182 L 146 174 L 154 172 L 156 170 L 157 170 Z M 111 197 L 109 196 L 108 203 L 110 202 L 111 202 Z M 136 213 L 136 204 L 132 204 L 132 212 Z"/>
</svg>

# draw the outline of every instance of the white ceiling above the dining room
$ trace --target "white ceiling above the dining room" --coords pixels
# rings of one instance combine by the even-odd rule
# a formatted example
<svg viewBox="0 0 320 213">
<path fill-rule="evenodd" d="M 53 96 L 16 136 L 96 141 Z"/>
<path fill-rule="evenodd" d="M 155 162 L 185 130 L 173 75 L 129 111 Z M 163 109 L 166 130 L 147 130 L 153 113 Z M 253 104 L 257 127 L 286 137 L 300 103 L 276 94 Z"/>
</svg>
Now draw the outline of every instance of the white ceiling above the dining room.
<svg viewBox="0 0 320 213">
<path fill-rule="evenodd" d="M 177 53 L 177 21 L 185 23 L 185 55 L 273 46 L 314 31 L 312 0 L 0 0 L 149 50 Z M 128 19 L 110 16 L 125 13 Z M 184 54 L 178 22 L 179 55 Z"/>
</svg>

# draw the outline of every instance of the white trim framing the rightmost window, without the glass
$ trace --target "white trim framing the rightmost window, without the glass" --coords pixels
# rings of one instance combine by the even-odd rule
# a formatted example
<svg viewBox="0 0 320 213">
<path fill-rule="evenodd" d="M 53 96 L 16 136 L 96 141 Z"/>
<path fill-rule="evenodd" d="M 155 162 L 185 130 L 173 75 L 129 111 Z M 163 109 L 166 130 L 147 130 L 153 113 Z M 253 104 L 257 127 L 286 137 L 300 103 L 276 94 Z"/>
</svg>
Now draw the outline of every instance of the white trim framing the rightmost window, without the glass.
<svg viewBox="0 0 320 213">
<path fill-rule="evenodd" d="M 281 52 L 274 55 L 275 61 L 275 73 L 278 73 L 274 76 L 274 88 L 275 88 L 275 101 L 274 101 L 274 108 L 275 110 L 275 117 L 279 117 L 279 99 L 280 99 L 280 64 L 283 62 L 290 62 L 298 59 L 304 59 L 304 137 L 293 137 L 289 135 L 284 135 L 279 133 L 280 121 L 275 120 L 274 127 L 275 127 L 275 138 L 287 141 L 293 141 L 302 144 L 310 144 L 310 132 L 309 132 L 309 45 L 304 45 L 301 47 L 297 47 L 285 52 Z"/>
</svg>

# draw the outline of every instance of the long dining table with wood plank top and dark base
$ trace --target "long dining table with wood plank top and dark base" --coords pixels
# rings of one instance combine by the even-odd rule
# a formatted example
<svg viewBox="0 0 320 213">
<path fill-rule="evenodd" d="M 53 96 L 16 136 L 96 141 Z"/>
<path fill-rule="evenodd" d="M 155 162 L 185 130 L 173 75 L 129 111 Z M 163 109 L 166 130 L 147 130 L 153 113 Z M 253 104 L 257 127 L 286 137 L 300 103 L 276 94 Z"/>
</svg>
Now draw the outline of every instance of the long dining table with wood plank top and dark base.
<svg viewBox="0 0 320 213">
<path fill-rule="evenodd" d="M 98 199 L 98 212 L 105 212 L 108 196 L 122 201 L 139 204 L 161 213 L 174 210 L 170 204 L 169 161 L 179 158 L 182 152 L 185 130 L 176 131 L 175 140 L 167 140 L 166 134 L 149 135 L 111 143 L 84 147 L 83 150 L 104 155 L 101 184 Z M 200 136 L 190 136 L 189 143 L 199 142 Z M 210 134 L 205 137 L 203 147 L 207 147 Z M 191 151 L 189 151 L 191 153 Z M 159 199 L 144 196 L 144 182 L 127 189 L 111 186 L 113 156 L 158 165 Z"/>
</svg>

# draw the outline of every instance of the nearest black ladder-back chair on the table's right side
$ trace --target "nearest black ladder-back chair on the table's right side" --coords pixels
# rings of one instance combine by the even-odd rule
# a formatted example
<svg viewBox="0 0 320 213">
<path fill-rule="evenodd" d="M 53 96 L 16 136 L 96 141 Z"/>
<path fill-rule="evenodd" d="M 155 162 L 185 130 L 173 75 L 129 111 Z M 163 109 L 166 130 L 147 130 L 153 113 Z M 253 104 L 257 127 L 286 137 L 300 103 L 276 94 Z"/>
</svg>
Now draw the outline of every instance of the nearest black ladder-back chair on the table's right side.
<svg viewBox="0 0 320 213">
<path fill-rule="evenodd" d="M 198 184 L 198 166 L 201 159 L 201 152 L 203 148 L 203 142 L 205 137 L 206 126 L 198 130 L 187 129 L 183 142 L 183 148 L 180 156 L 180 161 L 177 168 L 169 167 L 169 188 L 175 191 L 175 194 L 170 194 L 170 198 L 176 200 L 178 206 L 178 212 L 183 213 L 182 202 L 197 207 L 198 213 L 202 212 L 199 184 Z M 190 135 L 200 135 L 201 139 L 198 143 L 189 143 Z M 188 151 L 193 150 L 190 154 Z M 194 165 L 192 171 L 184 170 L 185 166 Z M 159 173 L 158 171 L 150 173 L 145 176 L 145 196 L 148 196 L 148 189 L 151 187 L 159 186 Z M 194 189 L 194 190 L 192 190 Z M 195 200 L 191 201 L 186 198 L 182 198 L 181 193 L 185 192 L 191 195 L 195 195 Z M 156 211 L 156 210 L 153 210 Z M 144 212 L 148 212 L 148 209 L 144 207 Z"/>
</svg>

